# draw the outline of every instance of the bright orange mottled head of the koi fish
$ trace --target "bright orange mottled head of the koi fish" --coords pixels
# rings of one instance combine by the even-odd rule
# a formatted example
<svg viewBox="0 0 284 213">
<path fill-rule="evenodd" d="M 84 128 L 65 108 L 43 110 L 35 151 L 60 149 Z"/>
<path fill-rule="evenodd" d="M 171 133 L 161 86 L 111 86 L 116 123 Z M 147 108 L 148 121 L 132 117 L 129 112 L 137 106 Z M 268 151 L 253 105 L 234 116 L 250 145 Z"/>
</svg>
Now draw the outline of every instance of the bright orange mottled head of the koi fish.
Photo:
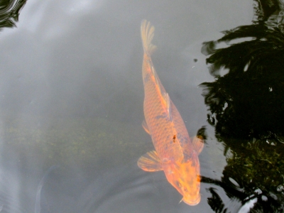
<svg viewBox="0 0 284 213">
<path fill-rule="evenodd" d="M 200 163 L 197 153 L 178 162 L 168 160 L 164 166 L 168 182 L 183 196 L 182 201 L 191 206 L 200 203 Z"/>
</svg>

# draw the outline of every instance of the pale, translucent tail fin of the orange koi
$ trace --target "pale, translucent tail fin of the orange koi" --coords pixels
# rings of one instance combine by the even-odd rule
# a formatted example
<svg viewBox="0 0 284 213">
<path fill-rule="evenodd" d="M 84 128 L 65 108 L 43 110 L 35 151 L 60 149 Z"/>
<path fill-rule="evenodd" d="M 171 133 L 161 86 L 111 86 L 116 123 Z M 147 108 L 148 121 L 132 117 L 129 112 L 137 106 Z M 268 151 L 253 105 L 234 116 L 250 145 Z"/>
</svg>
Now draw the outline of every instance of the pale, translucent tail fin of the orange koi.
<svg viewBox="0 0 284 213">
<path fill-rule="evenodd" d="M 155 45 L 151 43 L 154 37 L 154 26 L 151 26 L 150 21 L 146 21 L 145 19 L 141 22 L 141 38 L 143 43 L 144 52 L 148 55 L 151 55 L 155 49 L 157 48 Z"/>
</svg>

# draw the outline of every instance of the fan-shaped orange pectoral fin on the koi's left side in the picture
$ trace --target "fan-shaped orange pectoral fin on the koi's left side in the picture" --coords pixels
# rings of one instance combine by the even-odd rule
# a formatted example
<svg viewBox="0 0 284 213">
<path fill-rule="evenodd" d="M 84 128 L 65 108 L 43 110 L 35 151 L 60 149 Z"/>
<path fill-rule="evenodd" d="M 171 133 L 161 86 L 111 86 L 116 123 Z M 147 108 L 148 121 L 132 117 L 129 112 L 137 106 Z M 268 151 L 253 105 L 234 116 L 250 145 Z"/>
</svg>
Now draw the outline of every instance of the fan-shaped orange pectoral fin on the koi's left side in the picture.
<svg viewBox="0 0 284 213">
<path fill-rule="evenodd" d="M 150 151 L 145 155 L 142 155 L 138 162 L 138 167 L 147 172 L 156 172 L 163 170 L 162 164 L 160 163 L 160 158 L 156 151 Z"/>
</svg>

